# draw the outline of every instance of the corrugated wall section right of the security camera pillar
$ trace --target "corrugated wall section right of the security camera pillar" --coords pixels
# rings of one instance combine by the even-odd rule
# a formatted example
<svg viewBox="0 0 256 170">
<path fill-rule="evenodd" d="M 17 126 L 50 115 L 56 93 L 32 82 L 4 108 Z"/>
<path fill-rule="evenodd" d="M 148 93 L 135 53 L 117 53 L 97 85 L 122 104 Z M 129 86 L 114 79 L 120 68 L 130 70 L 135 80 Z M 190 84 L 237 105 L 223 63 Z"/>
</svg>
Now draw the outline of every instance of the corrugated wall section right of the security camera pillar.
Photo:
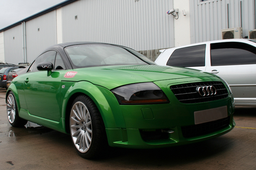
<svg viewBox="0 0 256 170">
<path fill-rule="evenodd" d="M 221 40 L 221 29 L 255 29 L 255 0 L 189 0 L 191 43 Z M 228 10 L 229 9 L 229 10 Z M 229 17 L 229 18 L 228 18 Z"/>
</svg>

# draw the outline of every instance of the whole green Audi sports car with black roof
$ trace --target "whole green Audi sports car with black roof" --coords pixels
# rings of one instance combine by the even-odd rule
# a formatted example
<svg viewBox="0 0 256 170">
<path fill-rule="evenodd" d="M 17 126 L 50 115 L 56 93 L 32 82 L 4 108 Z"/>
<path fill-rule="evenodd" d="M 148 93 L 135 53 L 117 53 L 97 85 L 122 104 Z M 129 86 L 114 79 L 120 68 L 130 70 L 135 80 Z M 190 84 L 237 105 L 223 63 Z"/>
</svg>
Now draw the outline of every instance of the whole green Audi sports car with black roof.
<svg viewBox="0 0 256 170">
<path fill-rule="evenodd" d="M 227 83 L 159 66 L 121 45 L 72 42 L 43 51 L 6 93 L 10 124 L 68 133 L 80 156 L 108 146 L 160 148 L 221 136 L 235 126 Z"/>
</svg>

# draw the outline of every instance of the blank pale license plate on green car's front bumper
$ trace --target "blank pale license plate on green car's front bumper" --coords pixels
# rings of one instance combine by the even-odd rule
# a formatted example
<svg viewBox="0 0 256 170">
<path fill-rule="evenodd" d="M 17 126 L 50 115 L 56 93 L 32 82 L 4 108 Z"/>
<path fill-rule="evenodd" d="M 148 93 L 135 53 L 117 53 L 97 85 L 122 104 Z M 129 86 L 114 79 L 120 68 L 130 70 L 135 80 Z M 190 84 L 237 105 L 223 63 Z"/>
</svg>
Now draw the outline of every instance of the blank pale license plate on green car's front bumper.
<svg viewBox="0 0 256 170">
<path fill-rule="evenodd" d="M 227 106 L 194 112 L 195 125 L 223 119 L 225 117 L 227 117 Z"/>
</svg>

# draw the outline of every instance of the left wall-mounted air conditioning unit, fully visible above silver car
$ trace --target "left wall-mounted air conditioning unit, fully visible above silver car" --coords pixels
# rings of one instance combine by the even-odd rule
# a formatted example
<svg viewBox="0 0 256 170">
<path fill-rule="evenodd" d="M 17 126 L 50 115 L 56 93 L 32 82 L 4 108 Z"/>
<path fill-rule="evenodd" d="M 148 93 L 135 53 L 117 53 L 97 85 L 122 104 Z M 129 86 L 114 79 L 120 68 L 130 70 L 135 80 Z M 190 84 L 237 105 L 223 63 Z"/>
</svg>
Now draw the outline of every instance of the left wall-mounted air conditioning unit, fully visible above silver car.
<svg viewBox="0 0 256 170">
<path fill-rule="evenodd" d="M 222 40 L 243 38 L 243 28 L 236 27 L 236 28 L 222 29 L 221 34 L 222 34 Z"/>
</svg>

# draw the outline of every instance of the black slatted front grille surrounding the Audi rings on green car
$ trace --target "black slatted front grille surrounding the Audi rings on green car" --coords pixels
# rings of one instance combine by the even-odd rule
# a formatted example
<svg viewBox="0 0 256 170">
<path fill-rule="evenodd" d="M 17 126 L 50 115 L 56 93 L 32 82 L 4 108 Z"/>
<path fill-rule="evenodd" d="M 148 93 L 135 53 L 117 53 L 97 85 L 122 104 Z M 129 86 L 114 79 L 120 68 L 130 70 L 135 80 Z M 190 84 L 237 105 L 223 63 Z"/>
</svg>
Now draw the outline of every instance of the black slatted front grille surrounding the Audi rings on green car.
<svg viewBox="0 0 256 170">
<path fill-rule="evenodd" d="M 201 96 L 198 91 L 196 91 L 197 87 L 204 87 L 209 85 L 212 85 L 216 88 L 217 92 L 215 95 Z M 210 102 L 225 99 L 228 96 L 227 88 L 222 82 L 194 82 L 172 85 L 170 88 L 177 99 L 180 102 L 186 104 Z"/>
</svg>

